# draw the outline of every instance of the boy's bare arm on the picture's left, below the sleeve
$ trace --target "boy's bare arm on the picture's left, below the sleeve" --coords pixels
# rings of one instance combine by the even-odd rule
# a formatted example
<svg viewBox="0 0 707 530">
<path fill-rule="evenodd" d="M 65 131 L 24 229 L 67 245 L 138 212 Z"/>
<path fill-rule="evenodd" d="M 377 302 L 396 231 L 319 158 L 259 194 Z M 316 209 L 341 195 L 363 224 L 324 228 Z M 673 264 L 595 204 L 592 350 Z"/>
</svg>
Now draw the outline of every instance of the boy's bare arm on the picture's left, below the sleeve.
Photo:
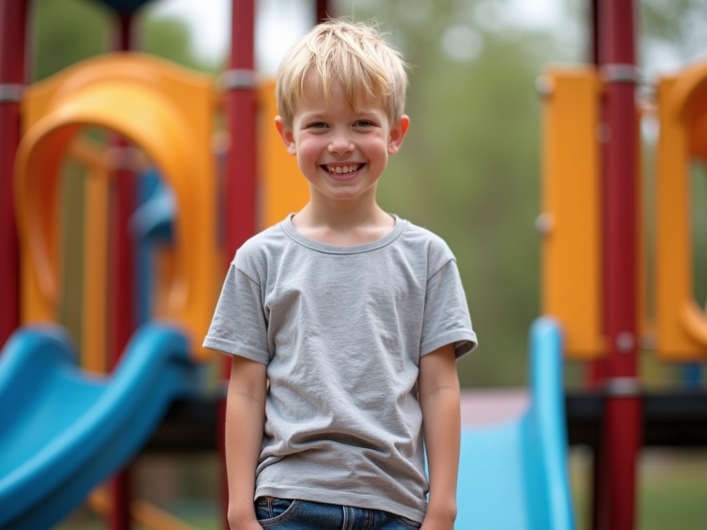
<svg viewBox="0 0 707 530">
<path fill-rule="evenodd" d="M 255 517 L 255 469 L 265 423 L 266 367 L 233 355 L 226 396 L 228 523 L 232 530 L 262 530 Z"/>
</svg>

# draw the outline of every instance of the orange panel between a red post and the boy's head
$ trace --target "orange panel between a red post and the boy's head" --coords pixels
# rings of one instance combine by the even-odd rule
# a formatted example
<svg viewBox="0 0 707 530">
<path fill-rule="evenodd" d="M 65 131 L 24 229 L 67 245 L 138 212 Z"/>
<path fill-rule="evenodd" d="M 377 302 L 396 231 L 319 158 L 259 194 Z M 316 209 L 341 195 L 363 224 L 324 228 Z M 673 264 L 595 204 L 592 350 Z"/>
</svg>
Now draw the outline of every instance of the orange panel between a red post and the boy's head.
<svg viewBox="0 0 707 530">
<path fill-rule="evenodd" d="M 277 129 L 275 81 L 265 81 L 258 93 L 258 171 L 260 182 L 260 228 L 299 211 L 309 200 L 307 180 L 296 157 L 290 155 Z"/>
</svg>

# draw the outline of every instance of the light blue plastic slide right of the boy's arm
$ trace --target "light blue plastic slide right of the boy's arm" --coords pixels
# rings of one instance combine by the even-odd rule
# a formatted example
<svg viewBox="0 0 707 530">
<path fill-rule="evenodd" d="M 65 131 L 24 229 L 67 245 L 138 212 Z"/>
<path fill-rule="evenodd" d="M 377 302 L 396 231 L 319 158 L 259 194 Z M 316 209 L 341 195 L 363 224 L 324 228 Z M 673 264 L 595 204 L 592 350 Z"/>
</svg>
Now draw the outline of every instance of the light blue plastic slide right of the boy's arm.
<svg viewBox="0 0 707 530">
<path fill-rule="evenodd" d="M 559 327 L 530 332 L 530 406 L 518 418 L 465 427 L 459 474 L 461 530 L 573 530 Z"/>
</svg>

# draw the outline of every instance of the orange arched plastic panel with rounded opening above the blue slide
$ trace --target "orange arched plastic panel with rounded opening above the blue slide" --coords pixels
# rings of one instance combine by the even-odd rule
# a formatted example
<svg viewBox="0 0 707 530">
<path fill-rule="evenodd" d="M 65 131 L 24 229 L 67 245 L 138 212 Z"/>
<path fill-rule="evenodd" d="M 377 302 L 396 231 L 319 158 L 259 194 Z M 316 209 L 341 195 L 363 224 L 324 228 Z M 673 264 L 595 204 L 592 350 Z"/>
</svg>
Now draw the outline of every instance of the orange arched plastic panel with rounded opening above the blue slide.
<svg viewBox="0 0 707 530">
<path fill-rule="evenodd" d="M 185 326 L 199 357 L 217 296 L 216 184 L 211 78 L 143 54 L 89 59 L 31 86 L 16 155 L 15 201 L 24 322 L 53 320 L 57 170 L 82 126 L 117 131 L 148 153 L 177 198 L 175 279 L 168 317 Z"/>
</svg>

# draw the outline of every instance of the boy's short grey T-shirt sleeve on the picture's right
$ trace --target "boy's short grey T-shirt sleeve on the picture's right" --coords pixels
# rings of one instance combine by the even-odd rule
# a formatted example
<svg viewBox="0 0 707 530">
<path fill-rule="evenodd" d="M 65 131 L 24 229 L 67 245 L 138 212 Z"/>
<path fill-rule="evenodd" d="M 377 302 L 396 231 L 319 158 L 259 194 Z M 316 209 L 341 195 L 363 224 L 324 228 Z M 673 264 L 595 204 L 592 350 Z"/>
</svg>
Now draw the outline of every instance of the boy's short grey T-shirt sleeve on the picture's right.
<svg viewBox="0 0 707 530">
<path fill-rule="evenodd" d="M 454 344 L 457 358 L 477 346 L 477 335 L 454 259 L 427 281 L 420 355 L 447 344 Z"/>
</svg>

